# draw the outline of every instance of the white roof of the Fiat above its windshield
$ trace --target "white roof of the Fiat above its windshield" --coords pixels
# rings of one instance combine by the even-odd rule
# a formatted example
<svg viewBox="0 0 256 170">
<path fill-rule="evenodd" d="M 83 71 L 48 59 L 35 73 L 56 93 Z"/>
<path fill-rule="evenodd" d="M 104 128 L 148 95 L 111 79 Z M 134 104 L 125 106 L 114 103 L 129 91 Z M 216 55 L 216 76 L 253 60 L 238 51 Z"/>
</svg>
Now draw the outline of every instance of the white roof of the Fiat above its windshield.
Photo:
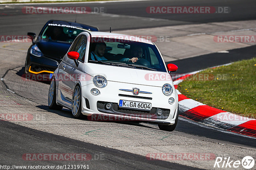
<svg viewBox="0 0 256 170">
<path fill-rule="evenodd" d="M 98 31 L 92 31 L 89 33 L 91 34 L 92 37 L 124 39 L 127 41 L 142 42 L 142 43 L 154 45 L 150 40 L 141 38 L 141 37 L 146 37 L 146 36 L 125 35 L 125 34 L 117 34 L 117 33 L 112 33 L 112 32 L 98 32 Z"/>
</svg>

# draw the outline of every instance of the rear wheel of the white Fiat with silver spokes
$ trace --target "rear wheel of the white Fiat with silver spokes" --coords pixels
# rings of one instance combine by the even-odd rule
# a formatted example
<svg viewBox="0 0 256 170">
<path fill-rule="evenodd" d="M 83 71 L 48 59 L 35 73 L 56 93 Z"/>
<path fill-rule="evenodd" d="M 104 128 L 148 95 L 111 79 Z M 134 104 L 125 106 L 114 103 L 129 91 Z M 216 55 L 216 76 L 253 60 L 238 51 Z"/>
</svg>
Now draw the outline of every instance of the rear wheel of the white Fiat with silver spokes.
<svg viewBox="0 0 256 170">
<path fill-rule="evenodd" d="M 52 81 L 49 88 L 48 93 L 48 106 L 50 109 L 53 110 L 61 110 L 63 107 L 56 104 L 56 86 L 55 86 L 55 80 L 52 77 Z"/>
</svg>

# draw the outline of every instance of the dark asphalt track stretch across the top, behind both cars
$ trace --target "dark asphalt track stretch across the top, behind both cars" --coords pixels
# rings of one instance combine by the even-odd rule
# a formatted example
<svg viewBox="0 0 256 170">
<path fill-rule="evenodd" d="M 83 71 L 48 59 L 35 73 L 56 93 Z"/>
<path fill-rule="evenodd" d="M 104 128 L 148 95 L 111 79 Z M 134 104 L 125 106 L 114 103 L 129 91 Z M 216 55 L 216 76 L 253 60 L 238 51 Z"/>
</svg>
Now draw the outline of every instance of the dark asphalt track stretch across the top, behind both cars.
<svg viewBox="0 0 256 170">
<path fill-rule="evenodd" d="M 241 6 L 241 4 L 243 4 Z M 228 14 L 152 14 L 147 13 L 145 8 L 148 6 L 226 6 L 230 7 L 232 12 Z M 61 19 L 75 21 L 76 14 L 24 14 L 21 8 L 24 6 L 43 6 L 43 7 L 61 7 L 61 6 L 88 6 L 92 9 L 103 7 L 107 13 L 89 13 L 77 15 L 77 22 L 98 26 L 100 31 L 112 31 L 160 27 L 169 25 L 196 24 L 208 22 L 239 21 L 255 19 L 255 1 L 239 0 L 216 0 L 216 1 L 169 1 L 153 0 L 138 2 L 116 2 L 104 4 L 33 4 L 33 5 L 15 5 L 2 7 L 0 22 L 0 32 L 3 35 L 24 35 L 28 31 L 39 33 L 49 19 Z M 96 10 L 95 10 L 96 11 Z"/>
</svg>

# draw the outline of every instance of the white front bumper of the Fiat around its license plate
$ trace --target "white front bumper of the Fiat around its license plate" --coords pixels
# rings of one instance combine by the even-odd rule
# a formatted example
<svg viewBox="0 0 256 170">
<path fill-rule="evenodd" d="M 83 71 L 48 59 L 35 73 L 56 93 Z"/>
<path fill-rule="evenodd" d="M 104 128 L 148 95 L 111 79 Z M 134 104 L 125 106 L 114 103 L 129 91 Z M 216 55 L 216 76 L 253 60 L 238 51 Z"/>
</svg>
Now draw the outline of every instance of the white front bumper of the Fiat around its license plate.
<svg viewBox="0 0 256 170">
<path fill-rule="evenodd" d="M 100 94 L 97 96 L 92 95 L 91 89 L 98 89 Z M 134 98 L 132 92 L 121 91 L 119 89 L 132 89 L 138 88 L 140 91 L 150 92 L 152 94 L 139 93 L 139 97 L 146 98 Z M 97 88 L 94 84 L 88 84 L 82 86 L 82 113 L 87 116 L 91 116 L 92 120 L 104 121 L 104 120 L 131 120 L 131 121 L 147 121 L 156 124 L 174 124 L 177 115 L 178 107 L 178 95 L 173 88 L 173 93 L 170 96 L 165 96 L 162 92 L 162 87 L 145 86 L 122 82 L 108 81 L 108 84 L 104 88 Z M 121 95 L 121 96 L 120 96 Z M 173 97 L 175 102 L 169 104 L 168 100 Z M 150 99 L 152 98 L 152 99 Z M 151 111 L 141 111 L 133 109 L 121 109 L 119 110 L 119 100 L 128 100 L 136 102 L 151 103 Z M 98 106 L 97 106 L 98 102 Z M 87 103 L 87 104 L 86 104 Z M 104 103 L 111 103 L 111 109 L 104 108 Z M 88 107 L 89 106 L 89 107 Z M 90 108 L 90 109 L 89 109 Z M 163 110 L 161 116 L 157 115 L 157 110 Z M 170 111 L 169 111 L 170 110 Z M 96 117 L 95 114 L 101 115 Z M 114 118 L 110 118 L 114 117 Z"/>
</svg>

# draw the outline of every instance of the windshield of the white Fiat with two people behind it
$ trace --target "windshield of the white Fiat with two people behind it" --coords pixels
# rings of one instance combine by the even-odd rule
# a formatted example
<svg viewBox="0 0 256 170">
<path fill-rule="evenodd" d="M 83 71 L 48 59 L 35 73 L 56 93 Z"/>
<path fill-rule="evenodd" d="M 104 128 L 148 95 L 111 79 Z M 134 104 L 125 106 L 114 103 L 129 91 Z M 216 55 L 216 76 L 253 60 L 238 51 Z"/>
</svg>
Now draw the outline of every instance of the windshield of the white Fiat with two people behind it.
<svg viewBox="0 0 256 170">
<path fill-rule="evenodd" d="M 164 62 L 155 45 L 124 41 L 104 38 L 101 42 L 91 42 L 88 62 L 112 63 L 122 67 L 166 72 Z"/>
</svg>

